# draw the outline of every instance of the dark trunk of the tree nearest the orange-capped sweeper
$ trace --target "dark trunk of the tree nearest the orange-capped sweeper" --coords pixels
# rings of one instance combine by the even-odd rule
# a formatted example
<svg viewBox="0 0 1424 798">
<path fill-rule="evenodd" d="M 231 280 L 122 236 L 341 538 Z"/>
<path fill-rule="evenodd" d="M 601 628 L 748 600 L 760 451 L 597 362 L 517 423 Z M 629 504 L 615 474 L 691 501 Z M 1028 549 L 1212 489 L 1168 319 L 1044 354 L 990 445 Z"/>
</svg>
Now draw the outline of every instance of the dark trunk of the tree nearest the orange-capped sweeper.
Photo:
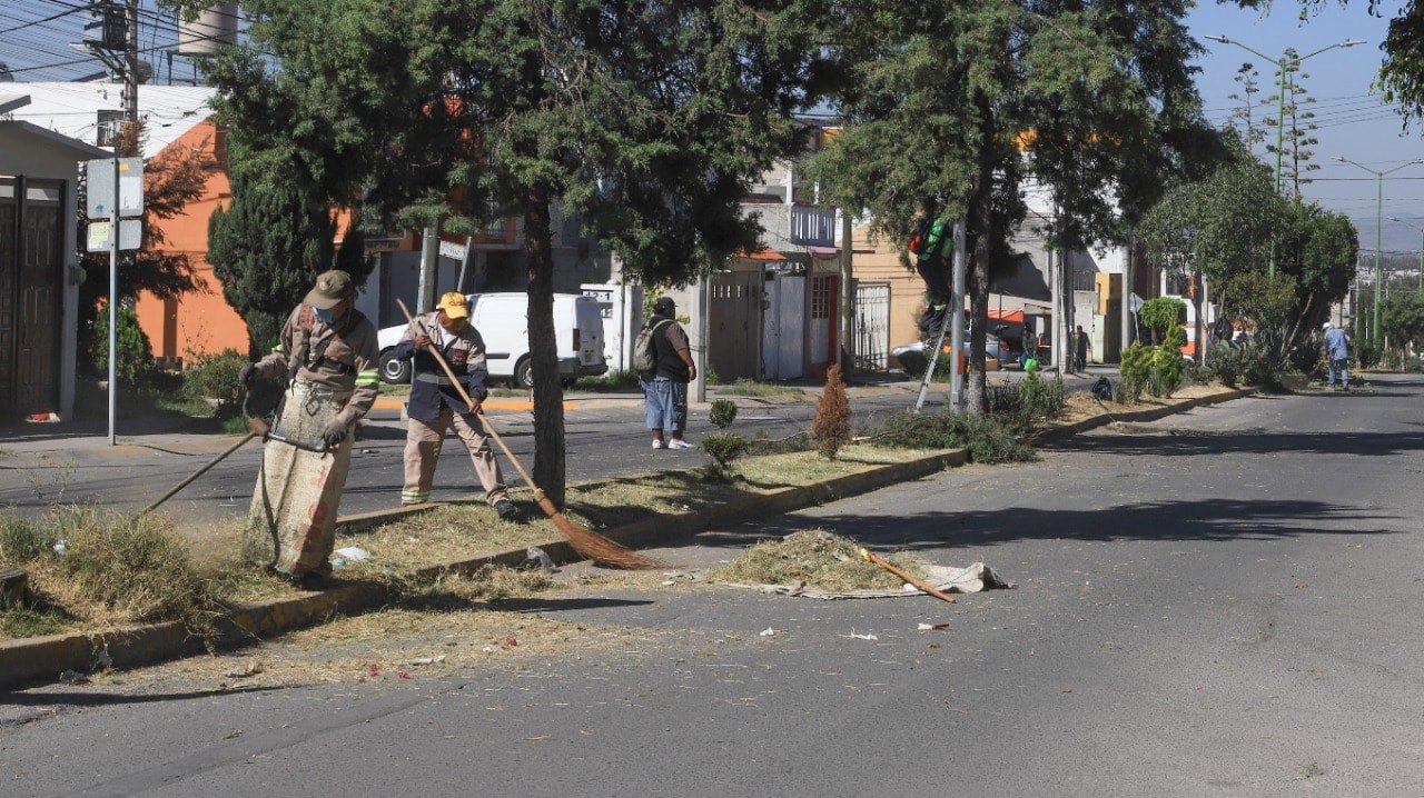
<svg viewBox="0 0 1424 798">
<path fill-rule="evenodd" d="M 528 257 L 530 358 L 534 367 L 534 482 L 555 506 L 564 506 L 564 388 L 558 378 L 554 333 L 554 252 L 550 239 L 550 192 L 531 188 L 524 212 Z"/>
</svg>

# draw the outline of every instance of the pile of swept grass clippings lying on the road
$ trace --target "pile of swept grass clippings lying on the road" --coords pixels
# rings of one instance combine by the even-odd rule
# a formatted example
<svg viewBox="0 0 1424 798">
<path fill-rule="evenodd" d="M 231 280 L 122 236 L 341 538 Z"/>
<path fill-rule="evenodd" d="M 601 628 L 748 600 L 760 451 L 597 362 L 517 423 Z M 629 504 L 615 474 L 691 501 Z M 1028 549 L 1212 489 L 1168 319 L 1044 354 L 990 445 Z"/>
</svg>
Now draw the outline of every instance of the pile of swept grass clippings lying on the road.
<svg viewBox="0 0 1424 798">
<path fill-rule="evenodd" d="M 797 585 L 819 590 L 897 590 L 899 576 L 860 558 L 850 538 L 823 529 L 793 532 L 779 541 L 762 541 L 735 560 L 708 570 L 716 582 L 742 585 Z M 901 569 L 924 576 L 924 563 L 904 555 L 886 558 Z"/>
</svg>

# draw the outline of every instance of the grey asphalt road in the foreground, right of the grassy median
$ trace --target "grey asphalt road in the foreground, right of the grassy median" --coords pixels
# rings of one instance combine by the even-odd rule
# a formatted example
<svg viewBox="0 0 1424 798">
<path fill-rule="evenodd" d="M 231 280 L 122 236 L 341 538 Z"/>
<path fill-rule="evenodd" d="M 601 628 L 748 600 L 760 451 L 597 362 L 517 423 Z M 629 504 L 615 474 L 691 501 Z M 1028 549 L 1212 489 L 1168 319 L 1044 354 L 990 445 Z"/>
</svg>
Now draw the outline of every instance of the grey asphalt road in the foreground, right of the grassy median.
<svg viewBox="0 0 1424 798">
<path fill-rule="evenodd" d="M 497 606 L 618 643 L 517 667 L 41 687 L 0 707 L 0 792 L 1420 795 L 1424 381 L 1376 380 L 1104 428 L 654 552 L 698 566 L 822 526 L 984 560 L 1015 590 L 584 587 Z"/>
</svg>

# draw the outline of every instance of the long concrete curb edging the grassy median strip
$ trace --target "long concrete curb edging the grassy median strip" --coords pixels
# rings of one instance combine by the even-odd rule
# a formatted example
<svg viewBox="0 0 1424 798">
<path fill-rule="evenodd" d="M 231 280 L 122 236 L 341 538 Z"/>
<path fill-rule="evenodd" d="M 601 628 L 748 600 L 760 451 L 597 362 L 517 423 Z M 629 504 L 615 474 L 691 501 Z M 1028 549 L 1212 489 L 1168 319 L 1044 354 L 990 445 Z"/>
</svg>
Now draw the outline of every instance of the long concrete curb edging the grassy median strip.
<svg viewBox="0 0 1424 798">
<path fill-rule="evenodd" d="M 1206 397 L 1198 397 L 1172 407 L 1161 407 L 1134 413 L 1119 413 L 1112 415 L 1096 415 L 1054 428 L 1035 435 L 1032 442 L 1045 442 L 1077 432 L 1102 427 L 1114 421 L 1153 421 L 1173 413 L 1182 413 L 1205 404 L 1229 401 L 1255 391 L 1249 388 L 1225 391 Z M 937 452 L 928 457 L 899 462 L 849 474 L 816 482 L 799 488 L 783 488 L 780 491 L 753 496 L 745 501 L 722 505 L 698 512 L 678 515 L 662 515 L 602 531 L 601 535 L 617 541 L 625 546 L 637 548 L 655 543 L 665 543 L 672 539 L 685 538 L 698 532 L 705 532 L 713 526 L 725 526 L 755 521 L 769 515 L 782 515 L 815 506 L 847 496 L 869 494 L 889 485 L 920 479 L 943 471 L 964 465 L 968 455 L 963 449 Z M 343 518 L 337 523 L 349 529 L 372 526 L 392 518 L 424 512 L 439 504 L 423 505 L 420 508 L 393 508 L 362 514 L 360 516 Z M 551 541 L 540 543 L 557 563 L 578 562 L 582 559 L 567 541 Z M 486 565 L 517 566 L 527 559 L 525 550 L 507 550 L 460 562 L 433 565 L 417 569 L 416 578 L 434 578 L 444 573 L 464 573 L 478 570 Z M 292 599 L 261 602 L 236 607 L 234 613 L 224 619 L 218 646 L 229 647 L 251 642 L 258 637 L 292 632 L 306 626 L 315 626 L 328 617 L 342 613 L 353 615 L 373 607 L 379 607 L 392 600 L 392 593 L 383 585 L 372 582 L 337 582 L 328 590 L 308 593 Z M 155 661 L 192 654 L 202 650 L 201 640 L 195 639 L 178 622 L 157 623 L 115 629 L 103 633 L 73 633 L 56 634 L 50 637 L 28 637 L 21 640 L 0 642 L 0 687 L 11 687 L 27 681 L 54 680 L 67 670 L 90 673 L 110 666 L 135 667 Z"/>
</svg>

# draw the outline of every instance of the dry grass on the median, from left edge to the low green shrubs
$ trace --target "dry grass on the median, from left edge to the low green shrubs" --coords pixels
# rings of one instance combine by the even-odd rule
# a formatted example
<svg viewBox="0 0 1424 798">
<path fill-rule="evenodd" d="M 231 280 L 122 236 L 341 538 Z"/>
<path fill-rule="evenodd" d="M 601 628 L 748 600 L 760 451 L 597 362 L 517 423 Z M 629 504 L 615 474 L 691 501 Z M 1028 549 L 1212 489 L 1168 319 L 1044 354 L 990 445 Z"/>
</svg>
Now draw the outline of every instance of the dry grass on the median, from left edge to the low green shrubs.
<svg viewBox="0 0 1424 798">
<path fill-rule="evenodd" d="M 612 529 L 655 516 L 702 512 L 920 455 L 850 447 L 834 461 L 815 452 L 792 452 L 746 458 L 729 475 L 691 468 L 574 485 L 568 489 L 567 514 L 591 529 Z M 181 533 L 161 512 L 132 518 L 83 505 L 57 505 L 33 522 L 0 516 L 0 558 L 24 568 L 31 586 L 27 603 L 0 612 L 0 639 L 108 633 L 124 626 L 179 620 L 206 640 L 215 634 L 215 619 L 231 607 L 300 595 L 285 580 L 244 562 L 242 536 L 242 519 L 194 536 Z M 507 523 L 483 502 L 454 504 L 340 535 L 337 549 L 360 548 L 369 558 L 343 558 L 336 576 L 380 583 L 402 596 L 414 595 L 429 582 L 412 576 L 417 569 L 558 539 L 558 531 L 545 518 Z"/>
</svg>

